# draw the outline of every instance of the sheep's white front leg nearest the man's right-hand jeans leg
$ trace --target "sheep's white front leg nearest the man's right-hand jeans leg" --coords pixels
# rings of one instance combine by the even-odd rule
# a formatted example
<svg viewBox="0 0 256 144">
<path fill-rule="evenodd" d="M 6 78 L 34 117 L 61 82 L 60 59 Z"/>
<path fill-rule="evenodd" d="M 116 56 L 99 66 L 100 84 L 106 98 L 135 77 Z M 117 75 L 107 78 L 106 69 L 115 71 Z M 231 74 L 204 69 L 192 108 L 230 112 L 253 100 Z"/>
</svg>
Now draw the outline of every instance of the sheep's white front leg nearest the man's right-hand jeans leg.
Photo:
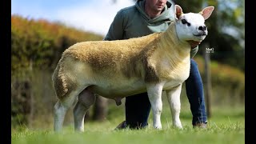
<svg viewBox="0 0 256 144">
<path fill-rule="evenodd" d="M 170 104 L 170 111 L 172 114 L 173 126 L 182 129 L 182 122 L 179 119 L 181 111 L 180 95 L 182 91 L 182 84 L 174 87 L 172 90 L 166 91 L 166 96 Z"/>
</svg>

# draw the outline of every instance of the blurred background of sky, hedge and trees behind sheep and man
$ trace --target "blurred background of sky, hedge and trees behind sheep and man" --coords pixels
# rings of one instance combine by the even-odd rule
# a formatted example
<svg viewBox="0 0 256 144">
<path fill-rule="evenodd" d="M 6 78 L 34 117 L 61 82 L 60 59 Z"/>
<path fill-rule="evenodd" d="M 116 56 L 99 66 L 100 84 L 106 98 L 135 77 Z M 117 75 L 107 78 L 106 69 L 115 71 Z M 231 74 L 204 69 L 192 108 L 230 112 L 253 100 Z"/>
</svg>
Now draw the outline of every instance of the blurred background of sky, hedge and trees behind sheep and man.
<svg viewBox="0 0 256 144">
<path fill-rule="evenodd" d="M 12 129 L 20 126 L 52 129 L 57 98 L 51 74 L 62 52 L 76 42 L 102 40 L 118 10 L 134 3 L 134 0 L 11 1 Z M 227 114 L 239 111 L 238 116 L 244 118 L 245 2 L 175 0 L 173 3 L 182 6 L 185 13 L 199 12 L 206 6 L 215 7 L 206 20 L 209 34 L 194 57 L 204 82 L 207 114 L 210 120 L 222 110 Z M 191 121 L 184 85 L 181 119 Z M 169 109 L 166 97 L 162 99 L 164 109 Z M 104 122 L 118 118 L 121 122 L 125 118 L 124 103 L 122 99 L 122 105 L 115 106 L 113 100 L 98 97 L 85 121 Z M 72 122 L 70 110 L 64 124 Z"/>
</svg>

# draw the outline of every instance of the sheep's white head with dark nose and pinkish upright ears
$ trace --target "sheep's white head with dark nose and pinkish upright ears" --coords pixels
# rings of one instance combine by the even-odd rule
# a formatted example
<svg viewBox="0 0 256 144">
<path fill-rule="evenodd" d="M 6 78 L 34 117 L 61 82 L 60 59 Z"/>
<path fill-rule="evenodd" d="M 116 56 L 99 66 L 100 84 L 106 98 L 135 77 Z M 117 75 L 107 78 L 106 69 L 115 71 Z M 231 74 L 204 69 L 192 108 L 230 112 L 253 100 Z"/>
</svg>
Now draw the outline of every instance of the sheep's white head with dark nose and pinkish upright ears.
<svg viewBox="0 0 256 144">
<path fill-rule="evenodd" d="M 205 20 L 210 17 L 214 10 L 214 6 L 208 6 L 198 14 L 183 14 L 182 7 L 175 5 L 176 9 L 176 31 L 181 41 L 190 44 L 199 44 L 206 38 L 208 34 Z"/>
</svg>

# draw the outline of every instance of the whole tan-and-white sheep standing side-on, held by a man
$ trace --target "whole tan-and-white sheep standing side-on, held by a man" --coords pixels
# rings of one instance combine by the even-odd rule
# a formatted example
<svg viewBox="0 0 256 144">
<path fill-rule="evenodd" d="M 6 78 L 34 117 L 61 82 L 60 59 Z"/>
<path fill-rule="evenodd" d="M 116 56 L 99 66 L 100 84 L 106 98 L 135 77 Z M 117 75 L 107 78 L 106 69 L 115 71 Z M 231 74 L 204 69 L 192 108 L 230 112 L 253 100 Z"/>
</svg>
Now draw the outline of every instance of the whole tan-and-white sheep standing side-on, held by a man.
<svg viewBox="0 0 256 144">
<path fill-rule="evenodd" d="M 62 53 L 52 75 L 58 102 L 54 106 L 54 131 L 61 131 L 66 111 L 74 107 L 74 129 L 84 131 L 84 115 L 95 95 L 116 100 L 147 92 L 153 110 L 153 126 L 162 129 L 162 90 L 166 91 L 173 126 L 179 118 L 182 83 L 190 74 L 190 43 L 199 44 L 208 33 L 204 24 L 214 6 L 198 14 L 183 14 L 165 32 L 116 41 L 78 42 Z M 188 25 L 190 23 L 190 26 Z"/>
</svg>

